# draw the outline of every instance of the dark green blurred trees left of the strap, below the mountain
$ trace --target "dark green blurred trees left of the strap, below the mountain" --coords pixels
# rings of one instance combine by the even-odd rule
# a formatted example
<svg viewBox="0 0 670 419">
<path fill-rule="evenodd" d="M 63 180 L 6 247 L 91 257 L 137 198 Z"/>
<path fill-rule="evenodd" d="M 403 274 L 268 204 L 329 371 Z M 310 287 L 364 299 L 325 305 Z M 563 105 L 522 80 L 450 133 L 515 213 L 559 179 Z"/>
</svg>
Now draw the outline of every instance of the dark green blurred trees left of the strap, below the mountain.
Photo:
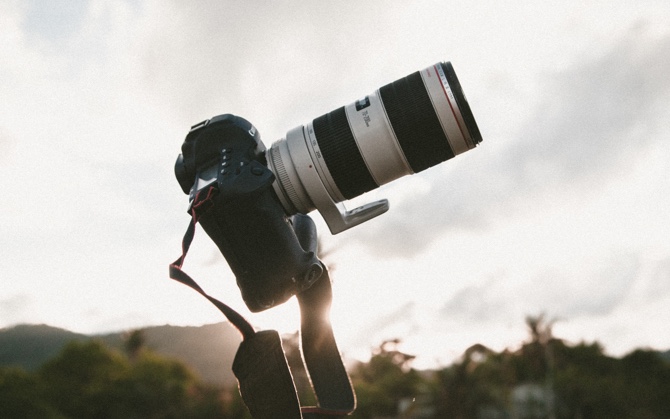
<svg viewBox="0 0 670 419">
<path fill-rule="evenodd" d="M 71 342 L 36 373 L 0 369 L 0 417 L 242 417 L 226 411 L 229 393 L 231 410 L 236 389 L 205 385 L 183 363 L 148 350 L 131 361 L 99 341 Z"/>
</svg>

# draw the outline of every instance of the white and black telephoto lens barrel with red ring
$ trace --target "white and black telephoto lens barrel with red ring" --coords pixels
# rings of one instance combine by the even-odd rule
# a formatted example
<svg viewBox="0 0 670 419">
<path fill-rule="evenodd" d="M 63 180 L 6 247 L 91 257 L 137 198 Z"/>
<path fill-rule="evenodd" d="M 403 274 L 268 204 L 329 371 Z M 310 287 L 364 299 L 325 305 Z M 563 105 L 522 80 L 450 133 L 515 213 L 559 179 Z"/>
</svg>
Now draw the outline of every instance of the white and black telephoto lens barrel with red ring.
<svg viewBox="0 0 670 419">
<path fill-rule="evenodd" d="M 287 213 L 307 213 L 421 172 L 481 141 L 454 68 L 446 62 L 289 131 L 270 148 L 268 163 Z"/>
</svg>

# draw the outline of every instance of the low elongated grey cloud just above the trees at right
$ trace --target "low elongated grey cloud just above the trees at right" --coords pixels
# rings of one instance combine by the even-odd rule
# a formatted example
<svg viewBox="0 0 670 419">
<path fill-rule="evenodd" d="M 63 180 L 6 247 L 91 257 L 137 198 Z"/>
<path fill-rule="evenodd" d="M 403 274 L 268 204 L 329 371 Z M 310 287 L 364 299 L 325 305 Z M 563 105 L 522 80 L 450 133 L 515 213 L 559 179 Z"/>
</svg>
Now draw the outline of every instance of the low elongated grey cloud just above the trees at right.
<svg viewBox="0 0 670 419">
<path fill-rule="evenodd" d="M 512 322 L 546 312 L 574 320 L 603 317 L 625 304 L 642 281 L 639 257 L 628 254 L 600 261 L 575 261 L 583 268 L 552 269 L 512 282 L 505 275 L 457 291 L 444 304 L 445 320 L 485 324 Z"/>
</svg>

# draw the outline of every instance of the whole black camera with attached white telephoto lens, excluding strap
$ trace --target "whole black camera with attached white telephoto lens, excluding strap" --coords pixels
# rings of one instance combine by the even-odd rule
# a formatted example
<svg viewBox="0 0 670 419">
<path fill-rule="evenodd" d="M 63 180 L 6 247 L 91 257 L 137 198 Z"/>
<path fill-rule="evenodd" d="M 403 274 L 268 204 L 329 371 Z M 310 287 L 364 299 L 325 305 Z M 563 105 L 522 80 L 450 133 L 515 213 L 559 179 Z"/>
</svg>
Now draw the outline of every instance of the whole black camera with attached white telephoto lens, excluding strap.
<svg viewBox="0 0 670 419">
<path fill-rule="evenodd" d="M 333 234 L 388 210 L 344 201 L 464 153 L 482 141 L 451 63 L 437 63 L 296 127 L 266 149 L 247 120 L 219 115 L 191 127 L 175 164 L 189 212 L 217 244 L 251 311 L 318 280 L 304 249 L 319 211 Z M 316 234 L 315 232 L 313 234 Z"/>
</svg>

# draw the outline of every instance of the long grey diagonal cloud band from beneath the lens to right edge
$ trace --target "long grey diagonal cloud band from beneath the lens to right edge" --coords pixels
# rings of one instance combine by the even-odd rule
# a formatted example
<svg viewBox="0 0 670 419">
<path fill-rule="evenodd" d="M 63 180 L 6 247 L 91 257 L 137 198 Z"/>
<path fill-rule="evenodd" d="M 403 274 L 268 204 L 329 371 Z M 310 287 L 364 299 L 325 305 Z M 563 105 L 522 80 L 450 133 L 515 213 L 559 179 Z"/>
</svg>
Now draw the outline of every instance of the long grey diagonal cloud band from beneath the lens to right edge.
<svg viewBox="0 0 670 419">
<path fill-rule="evenodd" d="M 355 238 L 376 254 L 409 258 L 447 231 L 481 231 L 492 218 L 541 203 L 544 194 L 588 194 L 625 176 L 650 145 L 664 141 L 669 73 L 670 35 L 629 30 L 602 55 L 546 75 L 539 103 L 517 138 L 483 130 L 477 149 L 415 175 L 429 180 L 429 188 L 399 205 L 392 202 L 376 227 Z M 481 124 L 499 115 L 475 117 L 480 126 L 505 123 Z M 383 234 L 388 230 L 403 234 Z"/>
</svg>

